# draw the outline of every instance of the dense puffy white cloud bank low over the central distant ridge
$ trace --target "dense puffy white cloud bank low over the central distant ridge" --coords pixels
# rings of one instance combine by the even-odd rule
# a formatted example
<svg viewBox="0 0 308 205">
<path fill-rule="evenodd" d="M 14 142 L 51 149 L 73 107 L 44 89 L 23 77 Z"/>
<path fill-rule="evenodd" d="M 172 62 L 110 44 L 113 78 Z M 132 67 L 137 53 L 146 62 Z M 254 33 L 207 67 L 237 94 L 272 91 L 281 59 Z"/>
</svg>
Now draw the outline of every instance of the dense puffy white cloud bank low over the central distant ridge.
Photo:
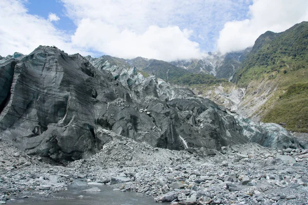
<svg viewBox="0 0 308 205">
<path fill-rule="evenodd" d="M 72 43 L 117 57 L 143 56 L 170 61 L 201 57 L 199 44 L 188 39 L 191 33 L 189 30 L 181 31 L 177 26 L 150 26 L 145 32 L 136 33 L 121 30 L 99 19 L 85 18 L 72 36 Z"/>
</svg>

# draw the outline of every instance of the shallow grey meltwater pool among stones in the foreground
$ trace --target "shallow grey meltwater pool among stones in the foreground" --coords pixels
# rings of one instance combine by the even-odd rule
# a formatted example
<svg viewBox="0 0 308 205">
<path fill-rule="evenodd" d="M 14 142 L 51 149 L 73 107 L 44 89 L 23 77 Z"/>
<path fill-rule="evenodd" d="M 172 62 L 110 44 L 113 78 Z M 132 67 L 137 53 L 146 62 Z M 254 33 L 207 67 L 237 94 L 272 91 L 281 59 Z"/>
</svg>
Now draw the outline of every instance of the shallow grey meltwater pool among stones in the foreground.
<svg viewBox="0 0 308 205">
<path fill-rule="evenodd" d="M 98 187 L 101 192 L 86 193 L 82 190 L 90 189 L 91 187 Z M 53 193 L 55 199 L 42 199 L 35 196 L 29 196 L 28 199 L 16 200 L 16 202 L 7 201 L 7 204 L 20 205 L 20 204 L 36 204 L 36 205 L 145 205 L 156 204 L 152 197 L 144 196 L 136 192 L 119 192 L 112 191 L 113 188 L 103 186 L 86 186 L 84 183 L 73 183 L 68 187 L 67 191 Z M 83 197 L 79 197 L 83 195 Z M 169 203 L 168 203 L 169 204 Z"/>
</svg>

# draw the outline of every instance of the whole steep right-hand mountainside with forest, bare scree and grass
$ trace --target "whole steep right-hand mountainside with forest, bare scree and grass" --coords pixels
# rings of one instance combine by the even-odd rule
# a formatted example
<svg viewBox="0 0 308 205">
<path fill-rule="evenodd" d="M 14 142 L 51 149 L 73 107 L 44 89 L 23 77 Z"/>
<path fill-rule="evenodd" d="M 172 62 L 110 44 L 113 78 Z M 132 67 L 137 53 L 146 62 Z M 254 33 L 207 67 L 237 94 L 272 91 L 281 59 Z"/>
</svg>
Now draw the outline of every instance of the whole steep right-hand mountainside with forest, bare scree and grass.
<svg viewBox="0 0 308 205">
<path fill-rule="evenodd" d="M 308 22 L 262 34 L 232 80 L 246 89 L 240 113 L 307 132 L 307 47 Z"/>
</svg>

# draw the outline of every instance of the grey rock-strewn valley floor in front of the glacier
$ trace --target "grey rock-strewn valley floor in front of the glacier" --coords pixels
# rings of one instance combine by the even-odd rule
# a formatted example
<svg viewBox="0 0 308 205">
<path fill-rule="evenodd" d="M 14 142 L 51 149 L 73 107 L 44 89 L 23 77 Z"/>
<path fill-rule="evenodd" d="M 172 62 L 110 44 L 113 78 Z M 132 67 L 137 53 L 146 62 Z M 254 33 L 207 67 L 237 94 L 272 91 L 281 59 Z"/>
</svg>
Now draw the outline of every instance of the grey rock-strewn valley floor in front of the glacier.
<svg viewBox="0 0 308 205">
<path fill-rule="evenodd" d="M 114 137 L 88 159 L 65 166 L 45 160 L 1 140 L 0 203 L 52 198 L 77 180 L 171 204 L 308 203 L 308 150 L 245 144 L 224 147 L 221 152 L 175 151 Z"/>
</svg>

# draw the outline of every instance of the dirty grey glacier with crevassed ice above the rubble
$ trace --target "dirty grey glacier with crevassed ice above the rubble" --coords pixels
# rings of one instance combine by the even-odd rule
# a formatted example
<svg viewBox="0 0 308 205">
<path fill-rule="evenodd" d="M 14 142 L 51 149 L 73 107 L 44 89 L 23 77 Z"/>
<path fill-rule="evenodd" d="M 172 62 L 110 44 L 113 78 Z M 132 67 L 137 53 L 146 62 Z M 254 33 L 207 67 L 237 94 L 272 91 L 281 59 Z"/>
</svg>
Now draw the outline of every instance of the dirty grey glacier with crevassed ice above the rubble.
<svg viewBox="0 0 308 205">
<path fill-rule="evenodd" d="M 0 138 L 27 154 L 60 161 L 97 153 L 112 140 L 110 131 L 174 150 L 220 150 L 248 141 L 300 146 L 279 125 L 254 124 L 126 65 L 118 58 L 67 55 L 48 46 L 5 61 L 0 64 Z"/>
</svg>

